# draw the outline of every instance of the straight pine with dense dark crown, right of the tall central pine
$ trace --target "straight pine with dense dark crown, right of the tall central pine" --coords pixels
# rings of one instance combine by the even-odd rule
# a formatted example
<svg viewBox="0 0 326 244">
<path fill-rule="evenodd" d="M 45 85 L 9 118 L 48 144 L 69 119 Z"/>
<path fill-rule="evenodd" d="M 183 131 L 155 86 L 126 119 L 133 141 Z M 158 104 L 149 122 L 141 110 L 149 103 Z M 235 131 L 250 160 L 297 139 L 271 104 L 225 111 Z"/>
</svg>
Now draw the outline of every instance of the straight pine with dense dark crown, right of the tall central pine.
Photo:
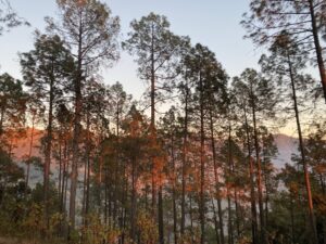
<svg viewBox="0 0 326 244">
<path fill-rule="evenodd" d="M 206 47 L 196 44 L 186 56 L 189 81 L 195 87 L 195 100 L 200 137 L 200 193 L 199 193 L 199 215 L 201 228 L 201 243 L 205 242 L 205 114 L 209 111 L 209 104 L 212 102 L 212 94 L 221 98 L 220 89 L 226 84 L 227 76 L 222 65 L 216 61 L 214 53 Z M 214 90 L 215 89 L 215 90 Z"/>
</svg>

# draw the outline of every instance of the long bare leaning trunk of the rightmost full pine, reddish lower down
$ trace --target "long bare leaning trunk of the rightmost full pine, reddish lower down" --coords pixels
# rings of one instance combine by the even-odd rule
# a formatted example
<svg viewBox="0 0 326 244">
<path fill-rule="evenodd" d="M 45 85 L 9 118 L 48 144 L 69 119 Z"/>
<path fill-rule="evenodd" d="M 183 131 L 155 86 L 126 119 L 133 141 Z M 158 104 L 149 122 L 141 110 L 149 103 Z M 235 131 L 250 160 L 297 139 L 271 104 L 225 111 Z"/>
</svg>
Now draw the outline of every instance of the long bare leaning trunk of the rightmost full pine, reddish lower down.
<svg viewBox="0 0 326 244">
<path fill-rule="evenodd" d="M 310 176 L 309 176 L 309 168 L 308 168 L 308 163 L 305 160 L 304 143 L 303 143 L 303 137 L 302 137 L 302 132 L 301 132 L 301 124 L 300 124 L 300 116 L 299 116 L 299 108 L 298 108 L 298 101 L 297 101 L 297 89 L 296 89 L 296 84 L 294 84 L 294 74 L 293 74 L 293 68 L 292 68 L 292 62 L 291 62 L 291 59 L 289 55 L 288 55 L 288 64 L 289 64 L 289 75 L 290 75 L 291 89 L 292 89 L 293 110 L 296 113 L 296 121 L 297 121 L 297 129 L 298 129 L 298 137 L 299 137 L 299 147 L 300 147 L 300 153 L 301 153 L 301 160 L 302 160 L 303 174 L 304 174 L 304 182 L 305 182 L 305 189 L 306 189 L 309 219 L 310 219 L 310 229 L 311 229 L 310 231 L 312 233 L 312 242 L 318 243 L 313 200 L 312 200 L 312 192 L 311 192 Z"/>
</svg>

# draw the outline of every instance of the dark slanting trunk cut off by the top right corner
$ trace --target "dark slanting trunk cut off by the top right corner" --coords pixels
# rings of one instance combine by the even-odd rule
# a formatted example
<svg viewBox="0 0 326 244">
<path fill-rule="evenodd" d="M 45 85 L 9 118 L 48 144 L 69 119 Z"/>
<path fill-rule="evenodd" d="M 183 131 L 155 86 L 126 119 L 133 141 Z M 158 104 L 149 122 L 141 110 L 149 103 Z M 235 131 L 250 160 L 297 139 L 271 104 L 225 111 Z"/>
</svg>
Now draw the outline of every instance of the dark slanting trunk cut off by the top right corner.
<svg viewBox="0 0 326 244">
<path fill-rule="evenodd" d="M 326 101 L 326 68 L 325 68 L 325 63 L 324 63 L 324 59 L 323 59 L 323 49 L 321 47 L 321 41 L 319 41 L 319 37 L 318 37 L 318 27 L 317 27 L 317 23 L 316 23 L 313 0 L 309 0 L 309 8 L 310 8 L 312 34 L 313 34 L 314 46 L 315 46 L 315 51 L 316 51 L 317 64 L 318 64 L 318 68 L 319 68 L 319 75 L 321 75 L 324 98 Z"/>
</svg>

